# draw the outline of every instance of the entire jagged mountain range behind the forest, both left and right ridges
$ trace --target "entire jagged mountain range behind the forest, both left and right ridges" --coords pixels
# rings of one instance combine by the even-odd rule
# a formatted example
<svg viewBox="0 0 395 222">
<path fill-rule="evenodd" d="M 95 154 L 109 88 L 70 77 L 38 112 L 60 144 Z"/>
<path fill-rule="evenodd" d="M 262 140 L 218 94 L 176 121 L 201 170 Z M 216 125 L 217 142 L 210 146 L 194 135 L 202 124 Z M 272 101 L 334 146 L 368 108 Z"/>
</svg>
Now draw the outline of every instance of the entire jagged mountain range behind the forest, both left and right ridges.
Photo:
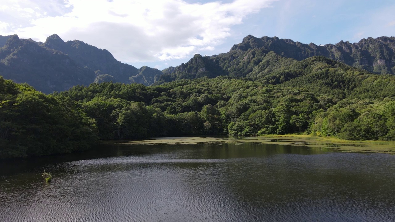
<svg viewBox="0 0 395 222">
<path fill-rule="evenodd" d="M 137 69 L 117 61 L 105 49 L 78 40 L 64 42 L 56 34 L 44 43 L 19 39 L 17 35 L 0 36 L 0 47 L 0 75 L 17 83 L 26 82 L 45 93 L 93 82 L 152 85 L 219 75 L 282 83 L 295 77 L 299 66 L 303 72 L 303 62 L 299 61 L 313 56 L 325 56 L 376 74 L 395 73 L 395 37 L 315 45 L 249 35 L 228 53 L 197 54 L 185 64 L 162 71 L 147 66 Z M 287 74 L 287 70 L 293 72 Z"/>
</svg>

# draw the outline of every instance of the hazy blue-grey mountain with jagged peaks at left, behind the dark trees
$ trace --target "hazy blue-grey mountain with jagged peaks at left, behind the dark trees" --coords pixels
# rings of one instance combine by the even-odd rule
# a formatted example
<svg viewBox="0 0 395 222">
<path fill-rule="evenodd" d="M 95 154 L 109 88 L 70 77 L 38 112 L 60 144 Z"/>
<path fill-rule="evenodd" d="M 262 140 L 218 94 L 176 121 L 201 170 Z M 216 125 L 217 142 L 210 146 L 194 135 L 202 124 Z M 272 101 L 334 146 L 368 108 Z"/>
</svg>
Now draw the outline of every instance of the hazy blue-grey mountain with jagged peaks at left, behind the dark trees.
<svg viewBox="0 0 395 222">
<path fill-rule="evenodd" d="M 119 62 L 109 51 L 83 41 L 64 42 L 56 34 L 44 43 L 17 35 L 0 36 L 0 75 L 45 93 L 103 81 L 151 85 L 161 74 Z"/>
</svg>

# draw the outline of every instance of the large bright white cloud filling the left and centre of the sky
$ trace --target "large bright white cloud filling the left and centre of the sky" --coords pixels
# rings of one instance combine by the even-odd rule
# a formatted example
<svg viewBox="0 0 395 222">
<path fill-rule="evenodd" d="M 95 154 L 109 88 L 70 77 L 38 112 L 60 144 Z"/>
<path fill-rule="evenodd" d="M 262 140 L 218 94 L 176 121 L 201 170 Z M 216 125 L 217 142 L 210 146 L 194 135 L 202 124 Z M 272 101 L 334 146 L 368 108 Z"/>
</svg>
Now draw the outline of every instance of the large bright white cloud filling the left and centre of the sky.
<svg viewBox="0 0 395 222">
<path fill-rule="evenodd" d="M 56 33 L 64 40 L 107 49 L 130 63 L 180 59 L 213 50 L 230 36 L 231 26 L 273 1 L 48 0 L 36 4 L 41 1 L 11 0 L 0 6 L 0 12 L 20 6 L 7 15 L 13 20 L 8 34 L 45 41 Z"/>
</svg>

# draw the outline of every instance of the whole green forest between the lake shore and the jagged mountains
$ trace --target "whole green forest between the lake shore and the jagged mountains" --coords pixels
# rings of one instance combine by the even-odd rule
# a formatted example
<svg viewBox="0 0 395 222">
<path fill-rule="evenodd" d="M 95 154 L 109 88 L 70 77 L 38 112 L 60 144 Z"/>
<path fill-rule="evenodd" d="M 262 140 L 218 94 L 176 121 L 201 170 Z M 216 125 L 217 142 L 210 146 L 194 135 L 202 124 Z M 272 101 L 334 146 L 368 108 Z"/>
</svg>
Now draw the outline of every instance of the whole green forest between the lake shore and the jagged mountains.
<svg viewBox="0 0 395 222">
<path fill-rule="evenodd" d="M 283 67 L 262 77 L 103 82 L 49 95 L 0 77 L 0 156 L 80 151 L 98 139 L 202 134 L 395 140 L 395 76 L 323 56 Z"/>
</svg>

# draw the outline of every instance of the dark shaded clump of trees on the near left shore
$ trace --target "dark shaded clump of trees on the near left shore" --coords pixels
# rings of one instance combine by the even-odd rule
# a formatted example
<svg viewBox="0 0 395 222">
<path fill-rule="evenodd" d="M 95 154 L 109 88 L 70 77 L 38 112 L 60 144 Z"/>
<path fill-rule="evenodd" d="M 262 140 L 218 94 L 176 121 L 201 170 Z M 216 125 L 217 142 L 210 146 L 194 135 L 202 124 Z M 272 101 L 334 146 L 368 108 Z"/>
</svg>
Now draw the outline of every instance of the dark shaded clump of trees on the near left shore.
<svg viewBox="0 0 395 222">
<path fill-rule="evenodd" d="M 0 76 L 0 158 L 86 150 L 96 132 L 76 102 Z"/>
</svg>

